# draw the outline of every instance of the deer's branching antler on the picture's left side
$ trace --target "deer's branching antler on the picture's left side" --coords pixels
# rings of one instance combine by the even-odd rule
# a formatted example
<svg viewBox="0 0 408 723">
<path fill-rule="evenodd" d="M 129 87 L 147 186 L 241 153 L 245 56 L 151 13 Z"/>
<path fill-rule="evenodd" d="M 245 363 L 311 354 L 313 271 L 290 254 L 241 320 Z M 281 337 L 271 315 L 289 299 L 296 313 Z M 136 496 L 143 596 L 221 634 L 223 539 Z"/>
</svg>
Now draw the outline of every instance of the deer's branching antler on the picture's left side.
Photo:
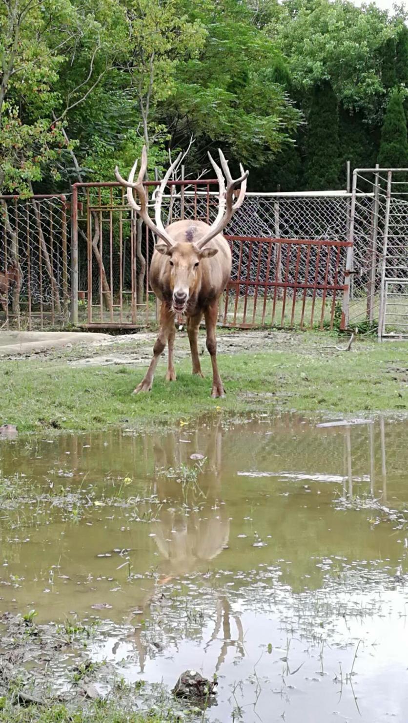
<svg viewBox="0 0 408 723">
<path fill-rule="evenodd" d="M 160 188 L 156 194 L 155 197 L 155 219 L 156 223 L 152 221 L 152 218 L 149 216 L 149 212 L 147 210 L 147 195 L 146 190 L 144 189 L 143 185 L 143 179 L 144 174 L 146 173 L 147 168 L 147 151 L 146 146 L 143 146 L 142 150 L 142 164 L 140 166 L 139 176 L 137 177 L 136 183 L 134 183 L 134 174 L 136 172 L 137 168 L 137 159 L 134 163 L 133 168 L 131 169 L 131 172 L 129 174 L 129 179 L 125 181 L 125 179 L 122 178 L 121 174 L 118 171 L 118 166 L 115 168 L 115 176 L 116 179 L 119 181 L 119 183 L 124 186 L 126 190 L 126 197 L 129 203 L 129 206 L 131 208 L 134 208 L 134 210 L 139 213 L 140 218 L 142 218 L 142 221 L 146 223 L 146 226 L 149 226 L 149 228 L 153 231 L 154 234 L 157 236 L 160 236 L 160 239 L 165 242 L 165 244 L 170 248 L 173 246 L 173 239 L 171 236 L 169 236 L 168 232 L 165 230 L 165 227 L 162 223 L 161 218 L 161 203 L 162 203 L 162 192 L 165 189 L 165 185 L 168 182 L 168 179 L 170 178 L 170 175 L 173 173 L 173 170 L 175 166 L 178 165 L 179 161 L 181 159 L 181 153 L 178 155 L 178 157 L 175 159 L 175 162 L 171 164 L 170 168 L 168 169 L 167 174 L 165 174 L 164 179 L 162 180 L 160 184 Z M 133 196 L 133 189 L 136 190 L 136 193 L 139 197 L 140 205 L 137 205 L 136 201 L 134 200 Z"/>
</svg>

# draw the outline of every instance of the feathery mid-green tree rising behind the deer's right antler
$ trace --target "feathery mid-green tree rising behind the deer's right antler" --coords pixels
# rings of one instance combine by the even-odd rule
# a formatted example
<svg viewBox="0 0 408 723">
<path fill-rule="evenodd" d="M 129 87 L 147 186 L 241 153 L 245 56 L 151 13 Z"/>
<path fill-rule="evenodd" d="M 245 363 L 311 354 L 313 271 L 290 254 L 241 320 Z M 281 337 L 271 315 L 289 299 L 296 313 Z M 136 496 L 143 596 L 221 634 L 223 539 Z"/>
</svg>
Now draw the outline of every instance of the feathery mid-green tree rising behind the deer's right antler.
<svg viewBox="0 0 408 723">
<path fill-rule="evenodd" d="M 191 22 L 206 29 L 195 59 L 178 67 L 175 92 L 162 103 L 172 143 L 196 137 L 196 163 L 221 145 L 230 158 L 251 167 L 266 165 L 294 132 L 300 113 L 276 78 L 274 43 L 253 22 L 255 12 L 240 0 L 183 0 Z"/>
</svg>

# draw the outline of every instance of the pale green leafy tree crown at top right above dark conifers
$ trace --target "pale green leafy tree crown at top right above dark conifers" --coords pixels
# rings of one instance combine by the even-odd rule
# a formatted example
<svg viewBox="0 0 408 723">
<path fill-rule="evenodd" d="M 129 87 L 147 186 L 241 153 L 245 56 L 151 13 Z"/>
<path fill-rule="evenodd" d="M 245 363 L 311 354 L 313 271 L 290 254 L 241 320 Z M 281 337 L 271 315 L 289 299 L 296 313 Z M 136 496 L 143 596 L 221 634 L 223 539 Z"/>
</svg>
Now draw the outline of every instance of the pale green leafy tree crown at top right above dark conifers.
<svg viewBox="0 0 408 723">
<path fill-rule="evenodd" d="M 266 32 L 287 58 L 295 87 L 329 80 L 345 108 L 368 119 L 381 112 L 381 53 L 395 34 L 387 12 L 350 0 L 283 0 Z"/>
</svg>

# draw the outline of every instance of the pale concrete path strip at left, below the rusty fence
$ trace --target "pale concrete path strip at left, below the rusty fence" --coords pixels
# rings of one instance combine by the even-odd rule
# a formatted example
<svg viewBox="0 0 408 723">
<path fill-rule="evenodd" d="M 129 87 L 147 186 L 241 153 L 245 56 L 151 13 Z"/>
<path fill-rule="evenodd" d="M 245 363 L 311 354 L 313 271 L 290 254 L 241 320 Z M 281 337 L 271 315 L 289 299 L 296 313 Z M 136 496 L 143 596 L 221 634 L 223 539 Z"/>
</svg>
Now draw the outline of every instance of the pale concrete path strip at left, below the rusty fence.
<svg viewBox="0 0 408 723">
<path fill-rule="evenodd" d="M 71 331 L 0 331 L 0 356 L 35 354 L 73 344 L 110 343 L 109 334 Z"/>
</svg>

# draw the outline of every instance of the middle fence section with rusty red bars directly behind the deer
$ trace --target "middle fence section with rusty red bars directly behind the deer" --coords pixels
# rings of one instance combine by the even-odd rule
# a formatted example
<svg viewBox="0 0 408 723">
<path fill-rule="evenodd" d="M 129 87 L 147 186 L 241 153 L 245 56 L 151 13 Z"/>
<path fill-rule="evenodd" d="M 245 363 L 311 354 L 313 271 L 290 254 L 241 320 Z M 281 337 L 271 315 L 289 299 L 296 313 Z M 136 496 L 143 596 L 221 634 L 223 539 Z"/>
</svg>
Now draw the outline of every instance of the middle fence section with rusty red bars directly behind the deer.
<svg viewBox="0 0 408 723">
<path fill-rule="evenodd" d="M 150 194 L 157 182 L 149 181 Z M 162 211 L 212 223 L 217 181 L 169 181 Z M 333 328 L 342 321 L 350 194 L 248 193 L 225 229 L 233 254 L 220 323 L 251 328 Z M 72 197 L 72 321 L 136 328 L 157 319 L 149 288 L 152 234 L 123 187 L 75 184 Z"/>
</svg>

